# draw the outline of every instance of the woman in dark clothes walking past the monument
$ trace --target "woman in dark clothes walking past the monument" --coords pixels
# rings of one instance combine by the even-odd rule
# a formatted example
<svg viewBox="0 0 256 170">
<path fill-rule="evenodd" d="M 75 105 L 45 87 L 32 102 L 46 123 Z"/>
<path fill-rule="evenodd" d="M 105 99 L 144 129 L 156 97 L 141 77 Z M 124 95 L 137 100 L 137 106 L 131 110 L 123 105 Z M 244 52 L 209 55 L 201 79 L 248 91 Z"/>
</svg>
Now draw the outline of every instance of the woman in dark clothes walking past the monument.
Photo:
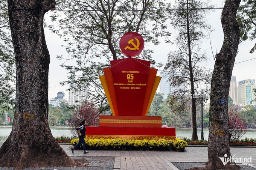
<svg viewBox="0 0 256 170">
<path fill-rule="evenodd" d="M 84 140 L 84 138 L 85 138 L 85 130 L 86 130 L 85 126 L 86 126 L 86 124 L 87 124 L 86 121 L 83 120 L 80 123 L 80 127 L 76 128 L 76 130 L 78 131 L 78 134 L 79 134 L 79 141 L 74 147 L 71 148 L 72 153 L 74 153 L 74 149 L 76 149 L 78 146 L 80 146 L 81 143 L 83 144 L 84 154 L 89 153 L 89 151 L 85 150 L 85 140 Z"/>
</svg>

